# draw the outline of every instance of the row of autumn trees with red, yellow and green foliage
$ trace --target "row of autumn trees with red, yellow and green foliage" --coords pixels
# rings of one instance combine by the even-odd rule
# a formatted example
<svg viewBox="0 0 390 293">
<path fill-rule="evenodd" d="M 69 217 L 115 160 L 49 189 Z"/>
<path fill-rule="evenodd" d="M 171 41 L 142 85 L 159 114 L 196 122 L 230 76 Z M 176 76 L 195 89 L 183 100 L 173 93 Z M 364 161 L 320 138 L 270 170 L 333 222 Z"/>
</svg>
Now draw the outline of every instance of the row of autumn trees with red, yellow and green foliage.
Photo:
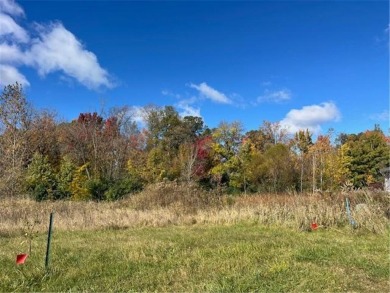
<svg viewBox="0 0 390 293">
<path fill-rule="evenodd" d="M 231 193 L 336 191 L 383 181 L 389 137 L 375 126 L 359 134 L 308 130 L 289 135 L 263 121 L 246 133 L 240 122 L 208 128 L 172 106 L 80 113 L 59 122 L 36 111 L 20 84 L 0 96 L 0 197 L 116 200 L 148 184 L 178 181 Z"/>
</svg>

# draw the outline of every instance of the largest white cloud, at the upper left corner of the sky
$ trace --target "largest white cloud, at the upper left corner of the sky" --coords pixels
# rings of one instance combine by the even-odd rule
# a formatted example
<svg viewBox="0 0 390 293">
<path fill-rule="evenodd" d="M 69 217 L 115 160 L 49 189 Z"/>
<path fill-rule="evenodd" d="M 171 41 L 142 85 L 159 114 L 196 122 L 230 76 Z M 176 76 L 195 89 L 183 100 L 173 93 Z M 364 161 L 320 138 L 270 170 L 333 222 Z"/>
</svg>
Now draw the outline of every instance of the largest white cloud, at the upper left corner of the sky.
<svg viewBox="0 0 390 293">
<path fill-rule="evenodd" d="M 27 32 L 16 23 L 16 16 L 24 15 L 18 4 L 0 0 L 0 8 L 2 86 L 16 81 L 29 85 L 27 78 L 19 71 L 22 66 L 34 68 L 41 76 L 60 72 L 89 89 L 114 86 L 111 76 L 100 66 L 96 55 L 86 50 L 62 23 L 37 24 L 34 31 Z M 3 76 L 8 78 L 4 79 Z"/>
</svg>

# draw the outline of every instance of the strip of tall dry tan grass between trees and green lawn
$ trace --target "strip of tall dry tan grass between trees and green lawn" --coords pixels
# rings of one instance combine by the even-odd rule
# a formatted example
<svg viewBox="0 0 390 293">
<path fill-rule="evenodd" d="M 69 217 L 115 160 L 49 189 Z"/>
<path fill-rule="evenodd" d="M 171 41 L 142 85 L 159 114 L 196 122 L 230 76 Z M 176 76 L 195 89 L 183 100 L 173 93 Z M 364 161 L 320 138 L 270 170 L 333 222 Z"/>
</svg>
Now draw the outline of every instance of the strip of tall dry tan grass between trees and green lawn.
<svg viewBox="0 0 390 293">
<path fill-rule="evenodd" d="M 218 195 L 191 186 L 162 183 L 117 202 L 72 202 L 29 199 L 0 201 L 0 236 L 43 232 L 55 213 L 58 230 L 124 229 L 140 226 L 235 224 L 283 225 L 307 230 L 350 225 L 345 198 L 351 203 L 355 228 L 384 233 L 389 226 L 390 195 L 360 190 L 348 194 Z"/>
</svg>

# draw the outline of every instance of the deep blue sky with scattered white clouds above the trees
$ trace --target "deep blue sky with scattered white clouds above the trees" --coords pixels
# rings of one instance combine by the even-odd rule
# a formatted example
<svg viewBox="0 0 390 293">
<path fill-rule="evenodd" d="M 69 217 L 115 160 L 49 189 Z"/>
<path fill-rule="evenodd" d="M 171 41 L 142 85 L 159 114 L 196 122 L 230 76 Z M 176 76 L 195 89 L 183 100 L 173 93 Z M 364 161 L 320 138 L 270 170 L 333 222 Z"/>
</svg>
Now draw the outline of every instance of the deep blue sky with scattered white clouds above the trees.
<svg viewBox="0 0 390 293">
<path fill-rule="evenodd" d="M 173 105 L 209 127 L 389 129 L 388 1 L 0 0 L 0 85 L 66 120 Z"/>
</svg>

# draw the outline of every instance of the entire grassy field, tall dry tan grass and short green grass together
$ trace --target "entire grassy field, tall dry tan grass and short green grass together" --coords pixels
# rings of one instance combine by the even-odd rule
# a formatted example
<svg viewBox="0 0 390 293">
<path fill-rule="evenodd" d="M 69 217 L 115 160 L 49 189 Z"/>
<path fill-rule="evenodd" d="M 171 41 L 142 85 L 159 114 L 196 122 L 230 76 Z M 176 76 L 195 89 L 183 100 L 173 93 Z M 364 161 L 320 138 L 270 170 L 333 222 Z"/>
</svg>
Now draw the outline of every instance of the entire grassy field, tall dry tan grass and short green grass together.
<svg viewBox="0 0 390 293">
<path fill-rule="evenodd" d="M 185 192 L 173 186 L 100 203 L 1 200 L 0 291 L 389 291 L 388 194 L 205 201 Z"/>
</svg>

